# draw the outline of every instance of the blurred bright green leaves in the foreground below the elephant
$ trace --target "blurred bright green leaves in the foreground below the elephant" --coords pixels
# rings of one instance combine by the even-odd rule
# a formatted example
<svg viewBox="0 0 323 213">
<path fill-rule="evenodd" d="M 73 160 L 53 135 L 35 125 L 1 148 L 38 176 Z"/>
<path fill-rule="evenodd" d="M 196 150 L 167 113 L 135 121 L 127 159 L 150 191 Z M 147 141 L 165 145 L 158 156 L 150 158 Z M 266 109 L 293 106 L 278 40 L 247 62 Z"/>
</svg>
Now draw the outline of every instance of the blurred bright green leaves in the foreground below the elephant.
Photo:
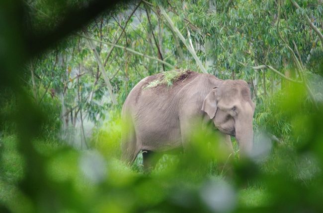
<svg viewBox="0 0 323 213">
<path fill-rule="evenodd" d="M 192 135 L 194 152 L 164 156 L 147 175 L 140 165 L 141 158 L 133 168 L 118 160 L 120 111 L 111 112 L 109 121 L 93 132 L 92 151 L 34 141 L 36 153 L 45 166 L 44 173 L 34 172 L 42 180 L 37 185 L 46 188 L 44 193 L 51 193 L 46 199 L 37 199 L 41 191 L 29 194 L 31 191 L 25 189 L 22 193 L 15 187 L 25 178 L 26 159 L 17 152 L 17 138 L 5 136 L 1 139 L 1 147 L 5 148 L 1 153 L 5 162 L 1 165 L 4 189 L 1 203 L 13 212 L 22 208 L 27 212 L 48 212 L 52 199 L 58 203 L 53 212 L 209 212 L 214 208 L 229 208 L 233 212 L 260 208 L 271 212 L 295 210 L 294 202 L 305 193 L 311 199 L 303 200 L 302 208 L 322 210 L 320 196 L 311 195 L 321 193 L 323 112 L 310 110 L 313 106 L 304 101 L 304 94 L 303 88 L 292 87 L 257 106 L 255 128 L 264 128 L 283 141 L 272 148 L 270 155 L 261 157 L 264 161 L 260 162 L 228 159 L 214 131 L 196 132 Z M 262 121 L 259 117 L 265 112 L 274 116 Z M 299 119 L 308 122 L 299 126 Z M 290 126 L 287 133 L 280 129 L 284 125 Z M 212 205 L 220 199 L 217 196 L 225 198 L 223 207 Z M 288 199 L 282 202 L 281 197 Z"/>
</svg>

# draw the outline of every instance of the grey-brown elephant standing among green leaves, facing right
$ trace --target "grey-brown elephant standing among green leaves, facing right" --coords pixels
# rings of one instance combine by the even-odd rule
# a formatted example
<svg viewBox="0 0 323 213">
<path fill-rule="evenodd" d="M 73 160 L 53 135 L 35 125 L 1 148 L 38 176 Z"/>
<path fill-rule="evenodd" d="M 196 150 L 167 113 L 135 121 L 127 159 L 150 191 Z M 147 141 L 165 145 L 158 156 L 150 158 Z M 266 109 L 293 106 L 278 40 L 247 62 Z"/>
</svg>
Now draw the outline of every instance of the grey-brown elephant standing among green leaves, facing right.
<svg viewBox="0 0 323 213">
<path fill-rule="evenodd" d="M 194 118 L 201 118 L 229 137 L 236 137 L 240 155 L 252 150 L 252 119 L 255 106 L 243 80 L 221 80 L 214 75 L 187 70 L 170 87 L 149 83 L 162 74 L 142 79 L 129 93 L 122 107 L 122 158 L 132 164 L 143 151 L 144 167 L 151 153 L 189 146 Z M 212 124 L 212 123 L 211 123 Z M 213 124 L 212 124 L 213 125 Z"/>
</svg>

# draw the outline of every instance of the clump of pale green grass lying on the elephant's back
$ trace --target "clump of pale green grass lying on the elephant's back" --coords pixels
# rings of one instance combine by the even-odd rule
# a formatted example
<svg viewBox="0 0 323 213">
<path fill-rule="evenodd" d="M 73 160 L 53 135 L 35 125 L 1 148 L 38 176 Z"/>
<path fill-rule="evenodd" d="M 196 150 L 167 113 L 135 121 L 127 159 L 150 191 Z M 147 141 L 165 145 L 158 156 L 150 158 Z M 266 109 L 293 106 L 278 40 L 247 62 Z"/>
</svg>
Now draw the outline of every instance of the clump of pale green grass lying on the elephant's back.
<svg viewBox="0 0 323 213">
<path fill-rule="evenodd" d="M 145 89 L 154 88 L 159 85 L 166 85 L 167 87 L 171 87 L 173 83 L 181 78 L 187 77 L 189 70 L 188 69 L 175 69 L 166 72 L 161 72 L 159 77 L 150 82 Z"/>
</svg>

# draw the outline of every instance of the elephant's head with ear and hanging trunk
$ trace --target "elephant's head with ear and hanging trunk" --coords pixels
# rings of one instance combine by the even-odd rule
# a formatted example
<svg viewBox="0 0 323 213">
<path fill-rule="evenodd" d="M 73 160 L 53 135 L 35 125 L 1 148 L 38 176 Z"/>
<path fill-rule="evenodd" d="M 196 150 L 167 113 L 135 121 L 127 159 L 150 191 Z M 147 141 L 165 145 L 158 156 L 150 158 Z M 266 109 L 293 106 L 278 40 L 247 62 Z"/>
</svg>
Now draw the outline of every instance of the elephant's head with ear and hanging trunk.
<svg viewBox="0 0 323 213">
<path fill-rule="evenodd" d="M 242 155 L 251 152 L 254 104 L 245 81 L 223 81 L 206 96 L 202 110 L 221 132 L 236 137 Z"/>
</svg>

